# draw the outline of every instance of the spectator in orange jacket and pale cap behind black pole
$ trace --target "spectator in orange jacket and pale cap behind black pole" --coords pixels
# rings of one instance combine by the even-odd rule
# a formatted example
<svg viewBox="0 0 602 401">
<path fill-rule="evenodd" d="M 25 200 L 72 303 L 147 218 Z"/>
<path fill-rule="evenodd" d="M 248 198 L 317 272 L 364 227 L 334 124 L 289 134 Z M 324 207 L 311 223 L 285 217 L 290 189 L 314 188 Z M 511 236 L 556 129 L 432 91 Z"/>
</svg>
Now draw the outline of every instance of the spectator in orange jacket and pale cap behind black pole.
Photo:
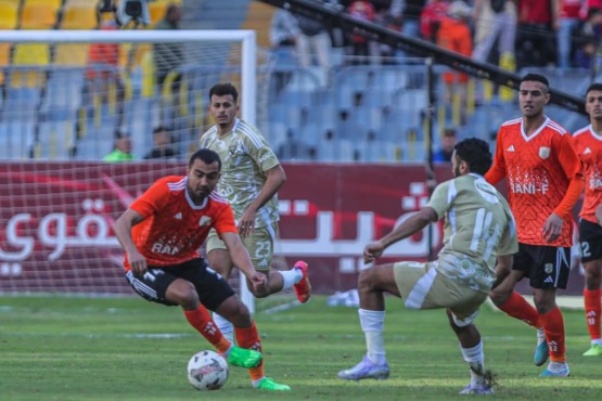
<svg viewBox="0 0 602 401">
<path fill-rule="evenodd" d="M 467 20 L 472 15 L 472 9 L 465 2 L 457 0 L 449 5 L 447 14 L 441 20 L 437 29 L 437 44 L 447 50 L 470 56 L 473 52 L 473 41 Z M 465 121 L 469 76 L 461 73 L 445 73 L 444 82 L 446 104 L 459 101 L 461 121 Z"/>
</svg>

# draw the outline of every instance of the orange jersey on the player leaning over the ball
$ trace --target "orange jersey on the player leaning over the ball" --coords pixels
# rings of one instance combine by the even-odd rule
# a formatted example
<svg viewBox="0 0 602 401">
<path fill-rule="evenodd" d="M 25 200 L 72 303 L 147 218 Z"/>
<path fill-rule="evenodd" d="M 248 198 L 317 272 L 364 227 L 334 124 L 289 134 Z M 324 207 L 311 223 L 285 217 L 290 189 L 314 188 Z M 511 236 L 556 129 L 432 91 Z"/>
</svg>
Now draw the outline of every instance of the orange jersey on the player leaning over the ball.
<svg viewBox="0 0 602 401">
<path fill-rule="evenodd" d="M 179 176 L 159 179 L 130 205 L 144 218 L 132 228 L 131 236 L 149 266 L 179 264 L 198 257 L 212 228 L 218 234 L 238 232 L 228 200 L 214 191 L 195 205 L 187 181 Z M 124 266 L 130 269 L 127 255 Z"/>
</svg>

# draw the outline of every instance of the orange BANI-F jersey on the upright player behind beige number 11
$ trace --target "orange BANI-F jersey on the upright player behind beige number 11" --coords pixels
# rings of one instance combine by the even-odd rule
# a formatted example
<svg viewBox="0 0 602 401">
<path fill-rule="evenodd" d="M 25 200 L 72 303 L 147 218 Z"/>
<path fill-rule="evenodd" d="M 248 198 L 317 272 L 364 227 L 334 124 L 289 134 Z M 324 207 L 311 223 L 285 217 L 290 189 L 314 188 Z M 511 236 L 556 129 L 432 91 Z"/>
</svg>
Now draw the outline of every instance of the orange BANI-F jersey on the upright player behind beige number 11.
<svg viewBox="0 0 602 401">
<path fill-rule="evenodd" d="M 563 216 L 562 233 L 556 241 L 548 243 L 542 234 L 546 220 L 561 204 L 571 179 L 581 174 L 581 163 L 568 131 L 546 117 L 541 127 L 527 137 L 522 118 L 505 121 L 498 131 L 491 168 L 507 177 L 518 242 L 572 246 L 571 214 Z"/>
</svg>

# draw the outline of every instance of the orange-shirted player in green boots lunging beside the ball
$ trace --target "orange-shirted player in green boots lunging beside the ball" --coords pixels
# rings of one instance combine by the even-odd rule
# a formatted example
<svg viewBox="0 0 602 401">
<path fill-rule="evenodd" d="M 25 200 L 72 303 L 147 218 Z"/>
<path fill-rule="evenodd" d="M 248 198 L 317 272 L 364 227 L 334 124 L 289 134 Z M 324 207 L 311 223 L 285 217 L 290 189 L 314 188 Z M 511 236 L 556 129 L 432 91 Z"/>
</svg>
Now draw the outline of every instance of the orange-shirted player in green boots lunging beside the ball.
<svg viewBox="0 0 602 401">
<path fill-rule="evenodd" d="M 117 219 L 126 279 L 148 301 L 180 306 L 190 325 L 228 362 L 249 368 L 254 387 L 290 390 L 265 377 L 261 341 L 248 309 L 197 250 L 215 229 L 251 285 L 266 285 L 239 236 L 230 204 L 214 192 L 220 171 L 219 155 L 200 150 L 191 156 L 187 176 L 157 180 Z M 240 347 L 221 334 L 207 309 L 233 323 Z"/>
</svg>

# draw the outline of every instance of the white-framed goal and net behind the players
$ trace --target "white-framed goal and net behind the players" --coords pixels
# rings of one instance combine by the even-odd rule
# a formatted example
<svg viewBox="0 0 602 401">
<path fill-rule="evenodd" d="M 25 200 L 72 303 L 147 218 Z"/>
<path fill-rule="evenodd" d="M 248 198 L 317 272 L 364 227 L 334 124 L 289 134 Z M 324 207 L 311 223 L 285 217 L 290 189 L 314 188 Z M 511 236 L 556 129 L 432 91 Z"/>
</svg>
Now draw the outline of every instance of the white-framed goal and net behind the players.
<svg viewBox="0 0 602 401">
<path fill-rule="evenodd" d="M 0 50 L 4 294 L 130 294 L 113 222 L 185 173 L 209 88 L 233 82 L 241 117 L 266 129 L 270 61 L 253 30 L 0 30 Z M 157 127 L 175 156 L 145 160 Z M 119 137 L 136 160 L 103 163 Z"/>
</svg>

